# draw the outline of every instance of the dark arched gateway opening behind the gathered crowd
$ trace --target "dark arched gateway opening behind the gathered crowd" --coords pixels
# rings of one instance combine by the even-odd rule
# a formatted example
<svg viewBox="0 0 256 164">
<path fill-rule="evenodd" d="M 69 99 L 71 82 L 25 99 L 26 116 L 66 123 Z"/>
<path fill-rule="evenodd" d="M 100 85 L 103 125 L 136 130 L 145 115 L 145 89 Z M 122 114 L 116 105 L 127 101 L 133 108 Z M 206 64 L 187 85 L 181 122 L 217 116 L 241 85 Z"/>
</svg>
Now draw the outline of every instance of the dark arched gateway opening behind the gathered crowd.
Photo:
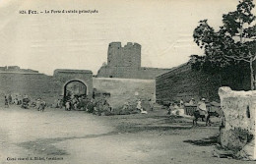
<svg viewBox="0 0 256 164">
<path fill-rule="evenodd" d="M 88 88 L 86 83 L 81 82 L 79 80 L 73 80 L 67 82 L 64 85 L 64 94 L 63 100 L 66 102 L 67 100 L 73 99 L 74 97 L 86 97 L 88 95 Z"/>
</svg>

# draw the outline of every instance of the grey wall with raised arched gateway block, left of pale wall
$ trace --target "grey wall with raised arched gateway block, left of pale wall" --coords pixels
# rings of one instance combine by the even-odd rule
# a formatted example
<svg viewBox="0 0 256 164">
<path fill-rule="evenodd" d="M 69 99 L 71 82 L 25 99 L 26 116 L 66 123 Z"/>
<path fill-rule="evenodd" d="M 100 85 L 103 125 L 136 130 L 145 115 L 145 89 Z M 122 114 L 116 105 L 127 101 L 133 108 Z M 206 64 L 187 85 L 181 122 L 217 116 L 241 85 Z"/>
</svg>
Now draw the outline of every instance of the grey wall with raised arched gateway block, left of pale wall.
<svg viewBox="0 0 256 164">
<path fill-rule="evenodd" d="M 54 100 L 63 98 L 64 86 L 73 81 L 85 83 L 88 96 L 93 95 L 92 71 L 55 70 L 54 76 L 32 72 L 0 72 L 0 101 L 4 102 L 5 94 L 27 94 L 32 101 L 40 97 L 51 104 Z"/>
</svg>

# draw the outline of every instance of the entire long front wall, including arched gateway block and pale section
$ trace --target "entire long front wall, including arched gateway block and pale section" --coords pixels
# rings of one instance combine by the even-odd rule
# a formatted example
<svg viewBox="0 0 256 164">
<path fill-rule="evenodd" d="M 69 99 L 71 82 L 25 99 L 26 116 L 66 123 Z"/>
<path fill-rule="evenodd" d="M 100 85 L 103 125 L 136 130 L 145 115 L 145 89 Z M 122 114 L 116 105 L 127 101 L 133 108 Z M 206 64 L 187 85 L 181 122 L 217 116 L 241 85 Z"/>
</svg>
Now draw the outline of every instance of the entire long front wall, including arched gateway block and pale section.
<svg viewBox="0 0 256 164">
<path fill-rule="evenodd" d="M 110 93 L 108 102 L 113 108 L 122 107 L 125 102 L 143 100 L 155 101 L 155 80 L 131 80 L 112 78 L 93 78 L 88 70 L 55 70 L 53 76 L 28 72 L 0 72 L 0 106 L 4 105 L 4 95 L 29 95 L 32 101 L 42 98 L 47 104 L 63 98 L 64 88 L 70 82 L 83 82 L 87 86 L 87 95 L 93 96 L 93 90 Z"/>
</svg>

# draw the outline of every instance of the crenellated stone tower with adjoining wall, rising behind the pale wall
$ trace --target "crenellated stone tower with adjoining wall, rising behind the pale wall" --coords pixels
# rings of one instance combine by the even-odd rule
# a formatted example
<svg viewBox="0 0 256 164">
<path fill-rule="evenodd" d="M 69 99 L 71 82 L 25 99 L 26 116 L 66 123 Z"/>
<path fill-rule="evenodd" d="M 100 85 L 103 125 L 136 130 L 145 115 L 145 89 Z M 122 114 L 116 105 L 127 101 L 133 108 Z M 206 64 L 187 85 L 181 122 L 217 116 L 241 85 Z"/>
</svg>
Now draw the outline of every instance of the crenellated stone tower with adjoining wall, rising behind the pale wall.
<svg viewBox="0 0 256 164">
<path fill-rule="evenodd" d="M 98 70 L 96 77 L 154 80 L 168 71 L 141 67 L 140 44 L 128 42 L 122 47 L 121 42 L 111 42 L 108 45 L 107 64 Z"/>
</svg>

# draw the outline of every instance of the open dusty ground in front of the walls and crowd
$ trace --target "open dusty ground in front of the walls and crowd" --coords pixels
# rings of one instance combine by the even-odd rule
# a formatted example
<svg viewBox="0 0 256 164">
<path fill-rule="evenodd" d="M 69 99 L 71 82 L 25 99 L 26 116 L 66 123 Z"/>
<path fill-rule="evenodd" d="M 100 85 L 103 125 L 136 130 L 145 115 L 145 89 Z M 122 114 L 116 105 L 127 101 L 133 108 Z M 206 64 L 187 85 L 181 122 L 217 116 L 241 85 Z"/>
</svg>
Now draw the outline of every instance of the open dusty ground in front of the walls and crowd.
<svg viewBox="0 0 256 164">
<path fill-rule="evenodd" d="M 213 127 L 192 128 L 191 119 L 166 111 L 94 116 L 12 106 L 0 108 L 0 120 L 0 163 L 254 163 L 213 157 L 218 119 Z"/>
</svg>

